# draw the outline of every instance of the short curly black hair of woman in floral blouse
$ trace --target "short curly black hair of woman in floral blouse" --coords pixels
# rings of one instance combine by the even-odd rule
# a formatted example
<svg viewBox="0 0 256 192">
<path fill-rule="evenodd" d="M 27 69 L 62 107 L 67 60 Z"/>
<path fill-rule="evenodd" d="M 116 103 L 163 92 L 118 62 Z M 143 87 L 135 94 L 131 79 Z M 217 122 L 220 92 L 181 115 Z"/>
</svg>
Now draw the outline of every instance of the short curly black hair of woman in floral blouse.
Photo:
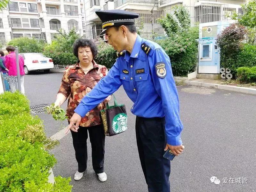
<svg viewBox="0 0 256 192">
<path fill-rule="evenodd" d="M 73 52 L 74 55 L 78 58 L 78 48 L 79 47 L 90 47 L 93 55 L 93 59 L 96 57 L 98 53 L 97 46 L 89 39 L 79 38 L 73 44 Z"/>
</svg>

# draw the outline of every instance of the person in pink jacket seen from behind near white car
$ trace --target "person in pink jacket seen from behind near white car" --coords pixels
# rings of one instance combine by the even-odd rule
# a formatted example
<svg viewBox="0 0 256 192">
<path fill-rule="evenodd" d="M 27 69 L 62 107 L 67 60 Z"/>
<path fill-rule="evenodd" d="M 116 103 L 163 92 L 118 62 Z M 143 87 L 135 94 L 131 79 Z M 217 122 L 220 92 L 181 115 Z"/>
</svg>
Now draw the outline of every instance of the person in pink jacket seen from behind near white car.
<svg viewBox="0 0 256 192">
<path fill-rule="evenodd" d="M 5 65 L 9 69 L 9 76 L 17 76 L 17 64 L 16 64 L 16 54 L 15 47 L 9 45 L 6 47 L 6 51 L 9 53 L 5 56 Z M 19 65 L 20 65 L 20 84 L 21 84 L 21 93 L 25 94 L 24 89 L 24 59 L 19 55 Z"/>
</svg>

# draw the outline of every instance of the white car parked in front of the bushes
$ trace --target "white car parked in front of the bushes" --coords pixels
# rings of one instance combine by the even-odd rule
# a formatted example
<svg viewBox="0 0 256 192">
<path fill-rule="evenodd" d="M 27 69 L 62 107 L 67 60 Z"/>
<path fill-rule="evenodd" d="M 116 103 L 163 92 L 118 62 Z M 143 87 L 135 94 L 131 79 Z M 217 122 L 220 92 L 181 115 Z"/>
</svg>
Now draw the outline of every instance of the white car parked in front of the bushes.
<svg viewBox="0 0 256 192">
<path fill-rule="evenodd" d="M 42 53 L 20 53 L 24 59 L 25 74 L 30 71 L 44 70 L 49 72 L 53 68 L 53 61 L 51 58 L 44 56 Z"/>
</svg>

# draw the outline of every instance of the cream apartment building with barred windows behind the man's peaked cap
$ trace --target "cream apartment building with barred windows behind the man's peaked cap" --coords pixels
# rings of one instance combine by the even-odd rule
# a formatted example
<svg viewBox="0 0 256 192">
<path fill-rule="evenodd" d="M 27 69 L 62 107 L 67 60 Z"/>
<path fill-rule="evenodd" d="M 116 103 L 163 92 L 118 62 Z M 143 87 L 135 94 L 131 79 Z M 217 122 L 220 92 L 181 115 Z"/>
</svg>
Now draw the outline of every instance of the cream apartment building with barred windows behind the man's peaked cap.
<svg viewBox="0 0 256 192">
<path fill-rule="evenodd" d="M 153 9 L 153 30 L 154 33 L 163 34 L 164 30 L 157 23 L 157 18 L 172 13 L 172 7 L 183 4 L 188 7 L 192 25 L 196 22 L 206 23 L 212 21 L 229 20 L 225 15 L 236 11 L 242 14 L 240 4 L 247 0 L 85 0 L 85 32 L 84 36 L 93 40 L 102 39 L 100 37 L 101 22 L 95 11 L 122 9 L 139 13 L 139 18 L 135 20 L 135 25 L 141 30 L 141 35 L 145 38 L 152 36 L 151 10 Z"/>
</svg>

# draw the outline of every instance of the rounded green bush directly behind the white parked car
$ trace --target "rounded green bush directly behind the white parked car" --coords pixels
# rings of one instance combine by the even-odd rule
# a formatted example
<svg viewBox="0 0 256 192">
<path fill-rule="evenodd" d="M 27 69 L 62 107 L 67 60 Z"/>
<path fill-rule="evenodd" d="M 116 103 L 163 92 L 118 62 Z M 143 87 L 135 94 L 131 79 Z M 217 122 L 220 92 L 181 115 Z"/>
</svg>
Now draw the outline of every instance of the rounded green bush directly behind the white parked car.
<svg viewBox="0 0 256 192">
<path fill-rule="evenodd" d="M 18 46 L 19 53 L 41 53 L 45 42 L 35 38 L 19 37 L 9 41 L 7 45 Z"/>
</svg>

